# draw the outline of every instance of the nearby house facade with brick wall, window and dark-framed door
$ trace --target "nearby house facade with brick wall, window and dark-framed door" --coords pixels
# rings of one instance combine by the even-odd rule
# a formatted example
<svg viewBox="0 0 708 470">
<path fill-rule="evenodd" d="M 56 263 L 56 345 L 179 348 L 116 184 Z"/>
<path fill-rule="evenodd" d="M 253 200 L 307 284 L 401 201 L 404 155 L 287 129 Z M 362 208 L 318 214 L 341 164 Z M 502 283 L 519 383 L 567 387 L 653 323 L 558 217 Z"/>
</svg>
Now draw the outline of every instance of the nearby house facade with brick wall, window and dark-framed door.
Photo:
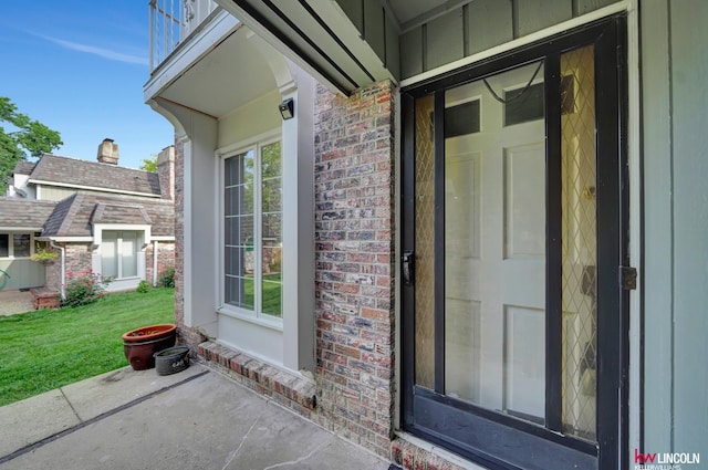
<svg viewBox="0 0 708 470">
<path fill-rule="evenodd" d="M 708 3 L 171 3 L 183 342 L 407 469 L 705 459 Z"/>
</svg>

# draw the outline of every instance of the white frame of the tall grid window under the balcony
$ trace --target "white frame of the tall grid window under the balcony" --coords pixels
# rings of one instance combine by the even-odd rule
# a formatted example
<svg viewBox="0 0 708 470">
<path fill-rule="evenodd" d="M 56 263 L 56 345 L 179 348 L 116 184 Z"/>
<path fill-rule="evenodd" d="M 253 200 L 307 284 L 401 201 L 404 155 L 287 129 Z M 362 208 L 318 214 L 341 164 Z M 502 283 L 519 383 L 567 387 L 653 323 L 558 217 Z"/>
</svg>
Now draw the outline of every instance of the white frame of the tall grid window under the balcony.
<svg viewBox="0 0 708 470">
<path fill-rule="evenodd" d="M 253 276 L 253 284 L 254 286 L 257 286 L 257 289 L 254 289 L 253 292 L 253 301 L 254 301 L 254 310 L 248 310 L 248 309 L 242 309 L 236 305 L 229 305 L 225 302 L 225 295 L 226 295 L 226 281 L 225 281 L 225 276 L 226 276 L 226 265 L 223 262 L 223 257 L 225 257 L 225 246 L 226 246 L 226 240 L 225 240 L 225 205 L 223 205 L 223 195 L 226 191 L 226 184 L 223 180 L 223 171 L 225 171 L 225 165 L 226 165 L 226 160 L 231 158 L 231 157 L 236 157 L 238 155 L 242 155 L 246 154 L 250 150 L 253 150 L 254 154 L 254 158 L 256 158 L 256 163 L 253 165 L 253 178 L 254 181 L 261 181 L 262 175 L 261 175 L 261 166 L 258 165 L 258 163 L 260 163 L 260 157 L 261 157 L 261 150 L 263 147 L 278 143 L 280 142 L 282 145 L 282 138 L 281 138 L 281 133 L 280 129 L 274 129 L 268 133 L 263 133 L 260 134 L 258 136 L 251 137 L 248 140 L 243 140 L 237 144 L 232 144 L 229 145 L 227 147 L 220 148 L 216 152 L 217 157 L 219 158 L 219 185 L 218 185 L 218 195 L 217 195 L 217 207 L 218 207 L 218 211 L 219 211 L 219 249 L 218 249 L 218 269 L 219 269 L 219 289 L 218 289 L 218 303 L 217 303 L 217 312 L 227 316 L 231 316 L 233 318 L 238 318 L 238 320 L 243 320 L 243 321 L 248 321 L 261 326 L 266 326 L 269 328 L 273 328 L 273 330 L 279 330 L 282 331 L 283 330 L 283 316 L 284 316 L 284 305 L 285 305 L 285 301 L 284 301 L 284 295 L 283 295 L 283 300 L 282 300 L 282 305 L 283 305 L 283 310 L 281 311 L 281 316 L 277 317 L 277 316 L 272 316 L 272 315 L 268 315 L 264 314 L 262 312 L 260 312 L 259 310 L 261 309 L 256 309 L 259 305 L 262 306 L 262 289 L 260 286 L 261 283 L 258 283 L 256 281 L 258 281 L 259 279 L 262 280 L 261 276 Z M 282 158 L 282 154 L 281 154 L 281 158 Z M 284 179 L 284 169 L 281 169 L 282 174 L 281 177 Z M 261 185 L 262 186 L 262 185 Z M 285 195 L 283 191 L 283 199 L 287 198 L 289 195 Z M 253 208 L 253 215 L 256 216 L 256 220 L 253 223 L 253 240 L 254 240 L 254 251 L 256 251 L 256 247 L 260 246 L 260 241 L 257 243 L 257 240 L 261 240 L 261 236 L 262 236 L 262 219 L 261 219 L 261 206 L 262 206 L 262 191 L 256 191 L 254 194 L 254 208 Z M 257 209 L 258 208 L 258 209 Z M 288 240 L 285 239 L 285 234 L 284 234 L 284 230 L 283 230 L 283 240 L 282 240 L 282 246 L 284 249 L 287 249 L 287 247 L 289 246 Z M 260 253 L 260 250 L 257 251 L 257 253 Z M 260 273 L 262 271 L 262 254 L 258 254 L 254 257 L 254 265 L 253 265 L 253 273 Z M 282 280 L 282 285 L 283 285 L 283 290 L 284 290 L 284 285 L 289 282 L 289 279 L 285 279 L 284 272 L 281 276 Z M 284 294 L 284 292 L 283 292 Z"/>
</svg>

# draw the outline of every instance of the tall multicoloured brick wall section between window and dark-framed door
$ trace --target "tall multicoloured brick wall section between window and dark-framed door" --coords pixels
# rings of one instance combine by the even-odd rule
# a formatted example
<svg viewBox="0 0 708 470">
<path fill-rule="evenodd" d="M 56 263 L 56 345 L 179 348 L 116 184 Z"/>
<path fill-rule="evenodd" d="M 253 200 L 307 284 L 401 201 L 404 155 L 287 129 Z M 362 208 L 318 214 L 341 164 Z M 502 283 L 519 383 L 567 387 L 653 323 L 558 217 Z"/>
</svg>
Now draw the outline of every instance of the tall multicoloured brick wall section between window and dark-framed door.
<svg viewBox="0 0 708 470">
<path fill-rule="evenodd" d="M 388 457 L 394 416 L 392 84 L 315 103 L 317 407 L 313 419 Z"/>
</svg>

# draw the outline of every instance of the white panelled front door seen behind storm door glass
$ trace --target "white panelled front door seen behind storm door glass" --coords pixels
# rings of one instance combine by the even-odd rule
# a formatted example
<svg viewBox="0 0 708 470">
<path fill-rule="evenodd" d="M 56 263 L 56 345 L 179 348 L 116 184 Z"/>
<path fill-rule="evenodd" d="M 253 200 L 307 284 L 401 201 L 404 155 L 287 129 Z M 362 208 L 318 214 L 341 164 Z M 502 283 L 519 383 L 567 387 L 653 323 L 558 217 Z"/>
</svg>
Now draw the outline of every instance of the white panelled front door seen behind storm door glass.
<svg viewBox="0 0 708 470">
<path fill-rule="evenodd" d="M 539 420 L 545 404 L 542 76 L 542 66 L 531 64 L 445 96 L 447 116 L 479 111 L 477 127 L 446 130 L 445 139 L 445 391 Z"/>
</svg>

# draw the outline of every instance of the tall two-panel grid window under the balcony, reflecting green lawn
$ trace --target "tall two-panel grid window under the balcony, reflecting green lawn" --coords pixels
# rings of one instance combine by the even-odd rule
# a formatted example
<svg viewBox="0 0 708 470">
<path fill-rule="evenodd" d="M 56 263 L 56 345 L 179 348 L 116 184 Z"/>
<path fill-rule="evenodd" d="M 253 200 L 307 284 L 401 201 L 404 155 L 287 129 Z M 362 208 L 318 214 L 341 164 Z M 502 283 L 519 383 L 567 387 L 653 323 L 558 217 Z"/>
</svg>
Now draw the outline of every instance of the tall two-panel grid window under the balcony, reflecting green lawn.
<svg viewBox="0 0 708 470">
<path fill-rule="evenodd" d="M 281 143 L 223 161 L 223 304 L 282 318 Z"/>
</svg>

